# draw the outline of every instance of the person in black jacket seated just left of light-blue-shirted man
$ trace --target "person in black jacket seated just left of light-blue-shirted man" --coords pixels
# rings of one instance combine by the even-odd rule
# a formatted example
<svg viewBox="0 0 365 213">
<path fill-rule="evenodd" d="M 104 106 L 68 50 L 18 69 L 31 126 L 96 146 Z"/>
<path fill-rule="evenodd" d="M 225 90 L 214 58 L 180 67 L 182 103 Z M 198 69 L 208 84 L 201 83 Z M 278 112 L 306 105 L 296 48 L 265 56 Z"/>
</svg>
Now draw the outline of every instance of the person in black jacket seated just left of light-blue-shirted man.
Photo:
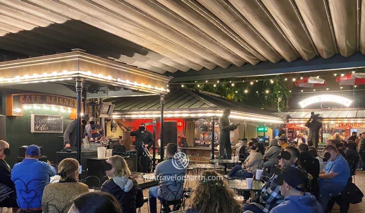
<svg viewBox="0 0 365 213">
<path fill-rule="evenodd" d="M 303 167 L 309 174 L 312 175 L 312 183 L 310 193 L 315 193 L 315 189 L 317 186 L 317 179 L 319 175 L 319 161 L 316 158 L 311 157 L 308 153 L 308 145 L 306 143 L 301 143 L 299 145 L 300 158 L 299 165 Z"/>
</svg>

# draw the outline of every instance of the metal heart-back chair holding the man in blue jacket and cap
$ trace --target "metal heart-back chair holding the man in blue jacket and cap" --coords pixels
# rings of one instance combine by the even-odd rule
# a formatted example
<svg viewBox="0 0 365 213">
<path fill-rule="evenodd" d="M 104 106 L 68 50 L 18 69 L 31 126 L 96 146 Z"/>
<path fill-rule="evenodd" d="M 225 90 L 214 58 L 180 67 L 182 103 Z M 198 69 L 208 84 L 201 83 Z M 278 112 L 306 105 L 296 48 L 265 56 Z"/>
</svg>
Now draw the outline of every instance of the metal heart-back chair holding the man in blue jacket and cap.
<svg viewBox="0 0 365 213">
<path fill-rule="evenodd" d="M 38 184 L 37 184 L 37 181 L 38 181 Z M 33 183 L 33 182 L 35 184 L 37 184 L 36 189 L 30 189 L 30 184 Z M 41 208 L 40 210 L 30 210 L 29 205 L 34 199 L 37 199 L 37 198 L 38 198 L 39 204 L 42 203 L 42 196 L 39 196 L 39 194 L 38 194 L 39 186 L 47 185 L 48 183 L 46 181 L 43 181 L 43 180 L 40 180 L 40 179 L 33 179 L 33 180 L 30 180 L 29 182 L 26 183 L 23 180 L 21 180 L 20 178 L 17 178 L 17 179 L 14 180 L 15 188 L 16 188 L 16 185 L 18 185 L 18 184 L 23 184 L 24 188 L 25 188 L 25 189 L 21 189 L 20 193 L 17 194 L 17 196 L 16 196 L 16 199 L 17 199 L 18 203 L 20 204 L 19 198 L 26 201 L 26 198 L 24 197 L 24 195 L 25 196 L 30 195 L 30 197 L 31 197 L 30 201 L 28 201 L 28 202 L 26 201 L 26 205 L 27 205 L 26 209 L 22 209 L 22 207 L 20 206 L 20 208 L 21 208 L 20 212 L 21 213 L 42 213 L 41 206 L 39 206 L 39 208 Z M 32 196 L 32 193 L 34 193 L 33 196 Z"/>
</svg>

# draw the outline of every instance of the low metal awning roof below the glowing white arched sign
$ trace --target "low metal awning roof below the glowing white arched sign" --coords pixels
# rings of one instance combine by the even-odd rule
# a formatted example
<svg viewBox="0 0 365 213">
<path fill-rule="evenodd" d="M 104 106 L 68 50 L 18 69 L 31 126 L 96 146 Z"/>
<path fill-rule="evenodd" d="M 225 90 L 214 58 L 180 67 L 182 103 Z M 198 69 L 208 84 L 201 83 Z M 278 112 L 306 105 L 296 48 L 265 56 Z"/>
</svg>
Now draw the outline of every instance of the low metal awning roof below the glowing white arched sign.
<svg viewBox="0 0 365 213">
<path fill-rule="evenodd" d="M 289 111 L 281 112 L 278 116 L 290 115 L 292 119 L 309 119 L 312 111 Z M 323 115 L 324 119 L 334 118 L 365 118 L 365 110 L 321 110 L 314 111 L 315 114 Z"/>
</svg>

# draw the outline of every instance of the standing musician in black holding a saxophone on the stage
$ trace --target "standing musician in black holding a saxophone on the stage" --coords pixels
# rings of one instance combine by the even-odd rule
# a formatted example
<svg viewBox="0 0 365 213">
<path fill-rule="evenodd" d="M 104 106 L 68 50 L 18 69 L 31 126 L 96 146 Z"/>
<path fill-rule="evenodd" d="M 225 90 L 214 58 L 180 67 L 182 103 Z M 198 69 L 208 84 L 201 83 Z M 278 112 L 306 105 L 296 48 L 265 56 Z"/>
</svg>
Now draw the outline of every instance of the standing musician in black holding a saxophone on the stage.
<svg viewBox="0 0 365 213">
<path fill-rule="evenodd" d="M 141 123 L 137 131 L 131 131 L 131 136 L 135 136 L 135 146 L 137 149 L 137 164 L 138 171 L 147 173 L 147 159 L 149 156 L 143 156 L 145 149 L 149 149 L 153 145 L 154 139 L 153 134 L 146 129 L 146 124 Z"/>
</svg>

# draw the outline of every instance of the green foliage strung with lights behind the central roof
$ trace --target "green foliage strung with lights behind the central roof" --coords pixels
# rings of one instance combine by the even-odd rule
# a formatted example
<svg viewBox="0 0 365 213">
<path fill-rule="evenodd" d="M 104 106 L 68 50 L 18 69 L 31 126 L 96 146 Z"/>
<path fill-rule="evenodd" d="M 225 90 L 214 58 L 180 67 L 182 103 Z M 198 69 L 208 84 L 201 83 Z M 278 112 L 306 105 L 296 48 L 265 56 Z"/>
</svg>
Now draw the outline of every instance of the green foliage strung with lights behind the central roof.
<svg viewBox="0 0 365 213">
<path fill-rule="evenodd" d="M 279 76 L 272 80 L 250 80 L 242 83 L 230 83 L 240 79 L 221 79 L 219 83 L 204 83 L 194 81 L 196 84 L 187 84 L 186 87 L 196 91 L 212 92 L 227 99 L 235 100 L 249 106 L 267 109 L 273 104 L 277 111 L 285 109 L 285 104 L 290 96 L 290 90 L 285 86 L 285 81 Z M 199 86 L 198 86 L 199 85 Z"/>
</svg>

